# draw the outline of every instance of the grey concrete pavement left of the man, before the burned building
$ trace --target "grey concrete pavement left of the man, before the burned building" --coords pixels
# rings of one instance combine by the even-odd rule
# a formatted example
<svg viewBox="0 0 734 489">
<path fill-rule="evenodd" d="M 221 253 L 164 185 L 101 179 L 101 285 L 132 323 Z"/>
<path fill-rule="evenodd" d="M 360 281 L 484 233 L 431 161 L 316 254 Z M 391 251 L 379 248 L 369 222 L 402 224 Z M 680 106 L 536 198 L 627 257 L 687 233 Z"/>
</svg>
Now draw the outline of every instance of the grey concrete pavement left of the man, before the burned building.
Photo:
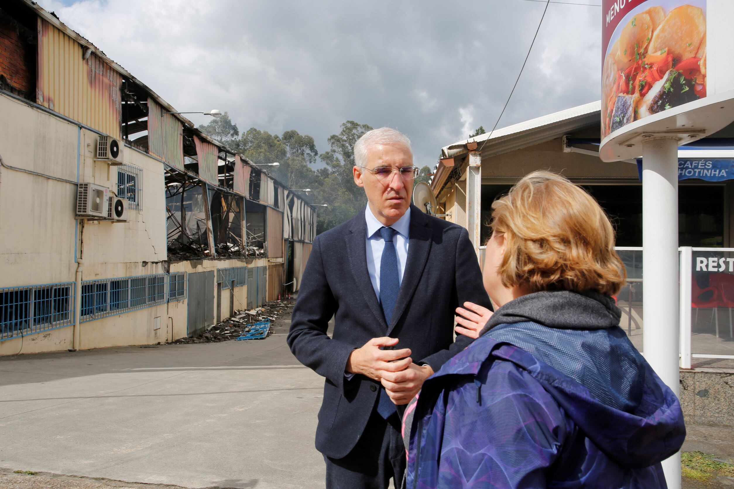
<svg viewBox="0 0 734 489">
<path fill-rule="evenodd" d="M 0 359 L 0 466 L 187 488 L 320 488 L 323 380 L 286 345 Z"/>
</svg>

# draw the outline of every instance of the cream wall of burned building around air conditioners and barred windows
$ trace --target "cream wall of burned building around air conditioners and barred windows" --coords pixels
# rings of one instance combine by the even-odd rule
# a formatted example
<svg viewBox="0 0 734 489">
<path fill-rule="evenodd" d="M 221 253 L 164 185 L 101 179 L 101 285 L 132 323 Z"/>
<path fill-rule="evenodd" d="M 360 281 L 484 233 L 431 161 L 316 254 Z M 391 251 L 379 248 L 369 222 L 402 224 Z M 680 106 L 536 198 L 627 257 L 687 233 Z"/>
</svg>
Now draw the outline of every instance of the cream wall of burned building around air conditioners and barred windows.
<svg viewBox="0 0 734 489">
<path fill-rule="evenodd" d="M 0 95 L 0 114 L 0 155 L 7 165 L 71 182 L 79 171 L 79 182 L 117 191 L 117 167 L 94 161 L 97 133 L 7 95 Z M 166 271 L 163 163 L 129 147 L 123 148 L 123 160 L 142 168 L 142 205 L 128 209 L 126 223 L 84 223 L 82 280 Z M 74 282 L 82 249 L 75 206 L 73 183 L 0 168 L 0 288 Z M 172 339 L 168 309 L 162 304 L 81 323 L 80 348 Z M 154 330 L 157 316 L 161 329 Z M 0 342 L 0 355 L 65 350 L 72 331 L 67 326 L 8 339 Z"/>
</svg>

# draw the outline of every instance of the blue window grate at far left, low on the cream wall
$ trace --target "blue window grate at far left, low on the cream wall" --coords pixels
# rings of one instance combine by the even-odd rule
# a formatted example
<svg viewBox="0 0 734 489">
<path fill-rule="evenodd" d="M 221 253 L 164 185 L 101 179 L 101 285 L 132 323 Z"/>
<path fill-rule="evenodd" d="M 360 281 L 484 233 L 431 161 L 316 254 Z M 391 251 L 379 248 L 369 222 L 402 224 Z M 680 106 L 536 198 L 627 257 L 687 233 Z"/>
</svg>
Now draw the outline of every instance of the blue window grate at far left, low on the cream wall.
<svg viewBox="0 0 734 489">
<path fill-rule="evenodd" d="M 0 341 L 74 322 L 74 282 L 0 289 Z"/>
</svg>

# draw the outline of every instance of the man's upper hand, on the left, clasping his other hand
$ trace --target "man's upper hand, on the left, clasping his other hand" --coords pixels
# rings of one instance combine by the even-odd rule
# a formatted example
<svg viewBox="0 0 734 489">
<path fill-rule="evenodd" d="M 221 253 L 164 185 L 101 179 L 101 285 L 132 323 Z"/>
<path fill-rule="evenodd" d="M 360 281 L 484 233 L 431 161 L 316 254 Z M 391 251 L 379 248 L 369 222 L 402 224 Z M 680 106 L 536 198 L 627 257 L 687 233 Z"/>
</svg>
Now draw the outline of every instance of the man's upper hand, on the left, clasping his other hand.
<svg viewBox="0 0 734 489">
<path fill-rule="evenodd" d="M 357 348 L 349 354 L 346 361 L 346 372 L 362 374 L 377 380 L 382 380 L 381 372 L 399 372 L 406 369 L 413 360 L 410 359 L 410 350 L 380 350 L 380 347 L 392 347 L 398 344 L 397 338 L 373 338 L 362 348 Z"/>
</svg>

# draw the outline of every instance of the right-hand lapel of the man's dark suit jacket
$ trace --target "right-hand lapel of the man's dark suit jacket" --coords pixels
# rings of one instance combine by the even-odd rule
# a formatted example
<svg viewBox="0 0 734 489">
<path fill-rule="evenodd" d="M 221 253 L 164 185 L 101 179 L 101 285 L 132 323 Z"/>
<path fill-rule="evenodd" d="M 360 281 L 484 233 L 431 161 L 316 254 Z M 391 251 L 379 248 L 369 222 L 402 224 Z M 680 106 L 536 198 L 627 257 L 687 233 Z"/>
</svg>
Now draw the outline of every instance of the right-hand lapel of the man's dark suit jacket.
<svg viewBox="0 0 734 489">
<path fill-rule="evenodd" d="M 393 317 L 388 327 L 388 336 L 395 328 L 401 315 L 403 315 L 410 298 L 413 297 L 415 287 L 418 287 L 418 282 L 421 280 L 421 275 L 423 275 L 423 270 L 428 261 L 428 254 L 431 251 L 431 236 L 432 229 L 428 227 L 428 219 L 426 219 L 425 214 L 418 207 L 411 206 L 408 257 L 398 299 L 395 303 L 395 309 L 393 309 Z M 369 280 L 369 277 L 367 278 Z"/>
</svg>

